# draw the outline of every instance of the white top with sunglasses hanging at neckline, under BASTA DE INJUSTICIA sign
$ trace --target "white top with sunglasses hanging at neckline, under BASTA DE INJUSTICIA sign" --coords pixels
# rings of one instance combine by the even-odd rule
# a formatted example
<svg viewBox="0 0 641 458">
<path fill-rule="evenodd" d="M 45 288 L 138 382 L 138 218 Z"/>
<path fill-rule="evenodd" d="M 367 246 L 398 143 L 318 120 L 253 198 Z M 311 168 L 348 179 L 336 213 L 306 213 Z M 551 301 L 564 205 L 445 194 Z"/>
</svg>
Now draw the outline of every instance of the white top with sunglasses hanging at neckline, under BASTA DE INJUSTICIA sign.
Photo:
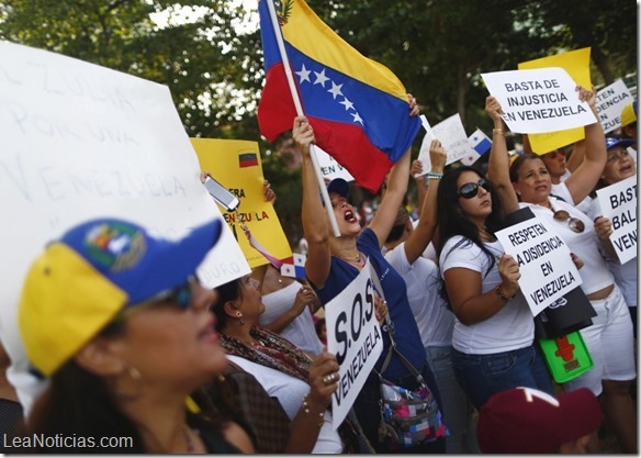
<svg viewBox="0 0 641 458">
<path fill-rule="evenodd" d="M 615 278 L 599 253 L 598 237 L 589 216 L 570 203 L 565 203 L 553 197 L 550 197 L 549 200 L 553 211 L 550 211 L 546 206 L 527 202 L 521 202 L 520 208 L 529 206 L 537 217 L 543 219 L 546 227 L 553 228 L 563 242 L 567 244 L 570 250 L 583 260 L 584 265 L 578 270 L 578 273 L 583 280 L 581 289 L 586 295 L 612 284 Z M 570 216 L 583 221 L 585 230 L 576 233 L 570 228 L 570 220 L 554 220 L 554 211 L 556 210 L 565 210 L 570 213 Z"/>
</svg>

